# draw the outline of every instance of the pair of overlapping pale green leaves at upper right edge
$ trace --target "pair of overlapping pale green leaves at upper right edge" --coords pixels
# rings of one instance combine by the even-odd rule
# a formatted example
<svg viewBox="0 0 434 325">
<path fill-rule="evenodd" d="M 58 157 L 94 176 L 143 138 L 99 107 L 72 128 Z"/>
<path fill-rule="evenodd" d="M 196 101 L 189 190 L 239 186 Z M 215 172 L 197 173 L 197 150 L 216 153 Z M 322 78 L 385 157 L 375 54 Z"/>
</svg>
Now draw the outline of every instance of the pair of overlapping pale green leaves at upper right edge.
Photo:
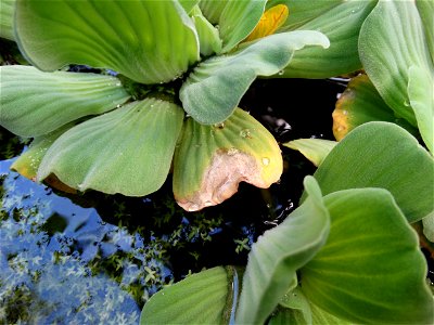
<svg viewBox="0 0 434 325">
<path fill-rule="evenodd" d="M 359 53 L 383 100 L 397 116 L 419 126 L 433 152 L 433 40 L 427 38 L 433 28 L 432 5 L 422 4 L 421 11 L 426 27 L 414 1 L 380 0 L 360 30 Z"/>
</svg>

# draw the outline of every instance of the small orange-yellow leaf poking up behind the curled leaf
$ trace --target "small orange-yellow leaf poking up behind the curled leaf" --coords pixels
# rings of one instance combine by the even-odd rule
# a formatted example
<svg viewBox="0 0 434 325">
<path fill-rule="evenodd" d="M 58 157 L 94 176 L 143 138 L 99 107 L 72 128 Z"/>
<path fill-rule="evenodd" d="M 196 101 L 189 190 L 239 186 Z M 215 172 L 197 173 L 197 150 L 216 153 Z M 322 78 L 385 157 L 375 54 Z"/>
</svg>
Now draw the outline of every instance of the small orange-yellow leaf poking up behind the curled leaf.
<svg viewBox="0 0 434 325">
<path fill-rule="evenodd" d="M 286 21 L 288 14 L 288 6 L 284 4 L 278 4 L 268 9 L 264 12 L 259 23 L 246 37 L 245 41 L 252 41 L 275 34 L 275 31 Z"/>
</svg>

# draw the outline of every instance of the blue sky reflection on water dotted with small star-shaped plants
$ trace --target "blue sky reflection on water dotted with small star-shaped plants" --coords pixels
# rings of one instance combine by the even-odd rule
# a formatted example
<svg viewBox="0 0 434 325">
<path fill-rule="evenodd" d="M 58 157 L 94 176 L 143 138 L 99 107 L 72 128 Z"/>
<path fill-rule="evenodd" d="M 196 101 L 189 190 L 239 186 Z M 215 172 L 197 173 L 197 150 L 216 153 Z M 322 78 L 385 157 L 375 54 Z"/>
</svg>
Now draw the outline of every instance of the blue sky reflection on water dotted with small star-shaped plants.
<svg viewBox="0 0 434 325">
<path fill-rule="evenodd" d="M 0 323 L 137 323 L 139 304 L 170 281 L 155 247 L 9 172 L 11 162 L 0 162 Z"/>
</svg>

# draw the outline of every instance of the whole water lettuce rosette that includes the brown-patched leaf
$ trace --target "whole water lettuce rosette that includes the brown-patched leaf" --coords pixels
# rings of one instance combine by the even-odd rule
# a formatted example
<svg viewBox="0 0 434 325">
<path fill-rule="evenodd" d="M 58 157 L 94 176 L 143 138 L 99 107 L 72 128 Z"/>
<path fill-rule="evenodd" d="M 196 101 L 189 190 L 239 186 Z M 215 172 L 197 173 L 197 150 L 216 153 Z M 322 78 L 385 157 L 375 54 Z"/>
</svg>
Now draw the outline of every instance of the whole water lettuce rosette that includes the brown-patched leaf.
<svg viewBox="0 0 434 325">
<path fill-rule="evenodd" d="M 257 76 L 278 76 L 295 51 L 329 41 L 312 30 L 270 35 L 288 8 L 265 12 L 266 2 L 5 6 L 15 18 L 3 37 L 33 65 L 0 68 L 0 123 L 34 138 L 13 168 L 79 191 L 143 196 L 173 165 L 175 197 L 187 210 L 221 203 L 240 181 L 268 187 L 282 172 L 279 146 L 237 106 Z M 103 70 L 77 74 L 71 64 Z"/>
</svg>

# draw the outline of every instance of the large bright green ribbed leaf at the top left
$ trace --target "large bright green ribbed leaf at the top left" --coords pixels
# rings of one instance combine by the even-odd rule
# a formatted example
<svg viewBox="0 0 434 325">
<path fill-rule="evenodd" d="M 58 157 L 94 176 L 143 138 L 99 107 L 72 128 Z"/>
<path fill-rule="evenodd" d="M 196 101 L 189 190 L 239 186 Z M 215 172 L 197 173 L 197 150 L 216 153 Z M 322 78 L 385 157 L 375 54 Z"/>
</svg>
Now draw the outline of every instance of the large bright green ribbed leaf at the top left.
<svg viewBox="0 0 434 325">
<path fill-rule="evenodd" d="M 42 70 L 87 64 L 157 83 L 199 60 L 195 28 L 178 1 L 22 0 L 15 28 L 21 50 Z"/>
</svg>

